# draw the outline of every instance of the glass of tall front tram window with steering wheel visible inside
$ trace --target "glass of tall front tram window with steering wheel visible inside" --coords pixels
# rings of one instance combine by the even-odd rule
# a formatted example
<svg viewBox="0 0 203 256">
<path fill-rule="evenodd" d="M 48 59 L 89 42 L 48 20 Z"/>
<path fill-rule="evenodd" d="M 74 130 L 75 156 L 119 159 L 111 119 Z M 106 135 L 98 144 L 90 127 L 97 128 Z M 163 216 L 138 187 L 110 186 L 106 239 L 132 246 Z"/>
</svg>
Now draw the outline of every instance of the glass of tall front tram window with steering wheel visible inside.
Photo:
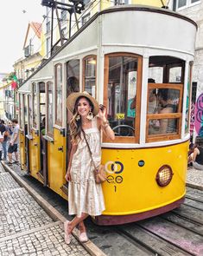
<svg viewBox="0 0 203 256">
<path fill-rule="evenodd" d="M 138 58 L 109 56 L 108 62 L 108 120 L 117 137 L 134 137 L 139 115 Z"/>
</svg>

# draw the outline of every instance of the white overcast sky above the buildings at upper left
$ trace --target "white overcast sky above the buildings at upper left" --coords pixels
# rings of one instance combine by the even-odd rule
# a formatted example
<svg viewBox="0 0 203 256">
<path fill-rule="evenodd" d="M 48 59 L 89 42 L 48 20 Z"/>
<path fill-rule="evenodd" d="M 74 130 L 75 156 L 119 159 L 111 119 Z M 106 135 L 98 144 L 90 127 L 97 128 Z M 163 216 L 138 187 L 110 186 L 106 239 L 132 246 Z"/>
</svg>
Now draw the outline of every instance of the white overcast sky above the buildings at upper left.
<svg viewBox="0 0 203 256">
<path fill-rule="evenodd" d="M 0 5 L 0 73 L 10 73 L 22 57 L 29 22 L 42 23 L 41 0 L 3 0 Z"/>
</svg>

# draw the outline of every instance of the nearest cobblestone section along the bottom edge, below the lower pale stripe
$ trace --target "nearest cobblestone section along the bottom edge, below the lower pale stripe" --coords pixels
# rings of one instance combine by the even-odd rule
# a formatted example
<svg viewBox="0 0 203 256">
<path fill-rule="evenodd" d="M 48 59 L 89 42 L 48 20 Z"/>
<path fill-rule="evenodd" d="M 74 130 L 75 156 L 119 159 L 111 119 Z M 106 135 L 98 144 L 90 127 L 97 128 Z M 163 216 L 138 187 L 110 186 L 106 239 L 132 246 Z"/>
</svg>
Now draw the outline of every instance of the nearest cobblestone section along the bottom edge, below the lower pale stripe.
<svg viewBox="0 0 203 256">
<path fill-rule="evenodd" d="M 90 255 L 74 237 L 70 245 L 65 244 L 63 235 L 61 225 L 22 236 L 19 234 L 15 239 L 0 242 L 0 255 Z"/>
</svg>

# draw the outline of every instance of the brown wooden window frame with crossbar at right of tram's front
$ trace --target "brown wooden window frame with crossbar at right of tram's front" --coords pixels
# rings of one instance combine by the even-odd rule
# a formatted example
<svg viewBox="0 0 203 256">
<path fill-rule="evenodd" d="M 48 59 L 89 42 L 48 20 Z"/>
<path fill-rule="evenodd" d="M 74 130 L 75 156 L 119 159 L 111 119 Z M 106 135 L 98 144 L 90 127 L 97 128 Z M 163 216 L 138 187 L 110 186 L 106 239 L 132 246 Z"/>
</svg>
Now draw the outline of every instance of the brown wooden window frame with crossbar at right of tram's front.
<svg viewBox="0 0 203 256">
<path fill-rule="evenodd" d="M 146 142 L 169 141 L 169 140 L 176 140 L 181 138 L 183 88 L 184 88 L 183 83 L 148 83 L 147 109 L 149 108 L 149 90 L 150 89 L 177 89 L 179 90 L 180 101 L 179 101 L 177 113 L 146 115 Z M 177 133 L 149 135 L 149 120 L 173 119 L 173 118 L 178 120 Z"/>
</svg>

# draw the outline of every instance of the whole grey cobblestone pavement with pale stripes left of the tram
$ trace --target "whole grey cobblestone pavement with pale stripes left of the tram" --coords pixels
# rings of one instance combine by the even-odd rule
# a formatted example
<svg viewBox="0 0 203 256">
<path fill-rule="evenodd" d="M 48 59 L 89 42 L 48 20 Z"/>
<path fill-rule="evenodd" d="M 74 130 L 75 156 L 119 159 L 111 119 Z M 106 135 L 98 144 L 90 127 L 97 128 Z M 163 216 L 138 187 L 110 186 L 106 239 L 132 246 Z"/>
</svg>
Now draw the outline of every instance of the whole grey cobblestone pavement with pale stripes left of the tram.
<svg viewBox="0 0 203 256">
<path fill-rule="evenodd" d="M 0 256 L 89 255 L 74 237 L 67 246 L 63 234 L 63 224 L 0 166 Z"/>
</svg>

